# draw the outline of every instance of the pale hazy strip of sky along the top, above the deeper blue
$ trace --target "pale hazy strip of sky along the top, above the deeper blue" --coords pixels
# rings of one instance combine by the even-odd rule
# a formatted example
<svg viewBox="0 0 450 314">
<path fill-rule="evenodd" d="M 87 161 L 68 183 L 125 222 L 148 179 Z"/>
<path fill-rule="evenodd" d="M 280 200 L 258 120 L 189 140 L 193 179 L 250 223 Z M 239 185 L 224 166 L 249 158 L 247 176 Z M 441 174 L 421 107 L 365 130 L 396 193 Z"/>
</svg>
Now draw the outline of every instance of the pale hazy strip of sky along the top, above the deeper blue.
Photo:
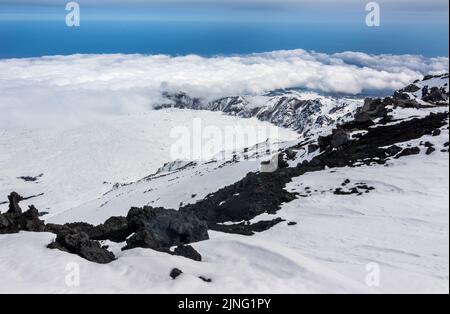
<svg viewBox="0 0 450 314">
<path fill-rule="evenodd" d="M 20 19 L 24 17 L 22 10 L 28 9 L 28 18 L 43 15 L 54 15 L 49 7 L 62 8 L 69 2 L 67 0 L 0 0 L 1 13 L 9 13 Z M 215 18 L 254 18 L 266 19 L 272 17 L 280 21 L 290 19 L 303 19 L 310 17 L 320 21 L 339 19 L 342 14 L 345 18 L 356 17 L 364 11 L 369 1 L 362 0 L 78 0 L 81 8 L 87 9 L 90 18 L 132 18 L 133 15 L 155 17 L 159 19 L 190 18 L 208 19 L 205 13 Z M 416 14 L 427 17 L 438 17 L 447 20 L 448 2 L 445 0 L 378 0 L 382 12 L 387 16 L 409 19 Z M 95 10 L 94 10 L 95 8 Z M 34 12 L 30 12 L 34 10 Z M 120 10 L 121 14 L 115 10 Z M 94 13 L 95 12 L 95 13 Z M 139 14 L 138 14 L 139 13 Z M 225 15 L 232 16 L 225 16 Z M 411 16 L 412 14 L 412 16 Z M 1 15 L 0 15 L 1 16 Z M 429 22 L 435 19 L 429 18 Z"/>
</svg>

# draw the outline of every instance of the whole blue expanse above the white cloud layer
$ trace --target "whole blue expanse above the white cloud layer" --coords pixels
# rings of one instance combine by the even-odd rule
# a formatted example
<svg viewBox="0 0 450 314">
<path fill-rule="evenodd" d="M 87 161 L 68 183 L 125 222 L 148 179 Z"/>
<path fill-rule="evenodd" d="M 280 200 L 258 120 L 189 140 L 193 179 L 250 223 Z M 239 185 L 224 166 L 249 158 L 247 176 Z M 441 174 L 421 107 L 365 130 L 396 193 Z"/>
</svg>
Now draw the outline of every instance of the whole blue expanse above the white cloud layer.
<svg viewBox="0 0 450 314">
<path fill-rule="evenodd" d="M 379 0 L 373 29 L 362 0 L 78 0 L 78 29 L 65 26 L 67 2 L 0 0 L 0 58 L 295 48 L 448 56 L 446 0 Z"/>
</svg>

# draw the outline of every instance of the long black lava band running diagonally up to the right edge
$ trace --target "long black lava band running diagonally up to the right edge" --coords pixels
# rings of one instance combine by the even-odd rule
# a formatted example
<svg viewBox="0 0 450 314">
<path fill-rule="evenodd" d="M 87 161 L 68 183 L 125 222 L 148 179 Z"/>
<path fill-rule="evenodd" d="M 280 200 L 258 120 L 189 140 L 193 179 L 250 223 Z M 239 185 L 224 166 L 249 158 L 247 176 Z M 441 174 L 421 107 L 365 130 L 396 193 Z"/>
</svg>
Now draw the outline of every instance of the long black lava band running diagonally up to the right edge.
<svg viewBox="0 0 450 314">
<path fill-rule="evenodd" d="M 432 134 L 434 130 L 446 125 L 447 119 L 447 113 L 430 114 L 422 119 L 371 128 L 360 139 L 345 143 L 338 149 L 331 145 L 322 147 L 321 155 L 310 162 L 299 164 L 296 168 L 280 168 L 273 173 L 249 173 L 241 181 L 207 196 L 196 204 L 187 205 L 180 211 L 207 221 L 210 229 L 231 229 L 217 224 L 248 221 L 263 213 L 274 214 L 283 203 L 294 200 L 296 195 L 284 189 L 293 177 L 324 170 L 325 167 L 355 167 L 356 163 L 384 164 L 388 158 L 394 158 L 399 153 L 398 149 L 389 146 Z M 247 226 L 246 232 L 253 232 L 251 228 L 252 225 Z"/>
</svg>

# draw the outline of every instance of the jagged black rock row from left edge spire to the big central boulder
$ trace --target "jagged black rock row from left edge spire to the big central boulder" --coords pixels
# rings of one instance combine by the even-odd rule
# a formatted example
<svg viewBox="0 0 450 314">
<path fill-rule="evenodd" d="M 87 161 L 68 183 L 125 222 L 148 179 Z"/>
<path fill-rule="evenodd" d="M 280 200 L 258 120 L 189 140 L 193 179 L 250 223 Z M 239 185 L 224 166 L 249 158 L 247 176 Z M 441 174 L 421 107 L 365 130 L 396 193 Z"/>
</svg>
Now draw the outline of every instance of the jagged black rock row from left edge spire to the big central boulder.
<svg viewBox="0 0 450 314">
<path fill-rule="evenodd" d="M 201 255 L 185 244 L 209 239 L 205 222 L 175 210 L 132 208 L 127 217 L 111 217 L 98 226 L 83 222 L 46 225 L 40 220 L 40 213 L 34 206 L 22 213 L 19 203 L 25 198 L 18 193 L 11 193 L 8 199 L 10 210 L 0 214 L 0 234 L 52 232 L 57 236 L 48 248 L 76 254 L 99 264 L 115 260 L 114 254 L 103 247 L 99 240 L 126 241 L 127 245 L 123 249 L 151 248 L 201 261 Z M 170 252 L 170 248 L 177 245 L 175 251 Z"/>
</svg>

